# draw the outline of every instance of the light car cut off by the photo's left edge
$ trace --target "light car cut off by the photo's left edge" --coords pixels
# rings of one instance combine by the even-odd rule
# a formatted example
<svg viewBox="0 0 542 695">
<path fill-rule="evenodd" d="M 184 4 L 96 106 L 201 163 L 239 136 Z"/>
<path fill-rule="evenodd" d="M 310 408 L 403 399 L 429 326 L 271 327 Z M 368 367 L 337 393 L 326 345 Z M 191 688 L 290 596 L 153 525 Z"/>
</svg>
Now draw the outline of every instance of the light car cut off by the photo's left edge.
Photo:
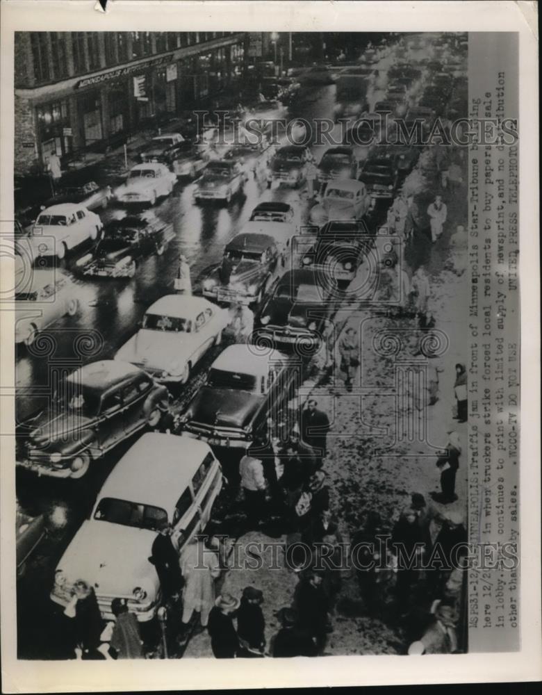
<svg viewBox="0 0 542 695">
<path fill-rule="evenodd" d="M 79 309 L 76 284 L 58 268 L 33 268 L 26 280 L 24 265 L 17 263 L 15 282 L 15 343 L 32 345 L 38 332 Z"/>
</svg>

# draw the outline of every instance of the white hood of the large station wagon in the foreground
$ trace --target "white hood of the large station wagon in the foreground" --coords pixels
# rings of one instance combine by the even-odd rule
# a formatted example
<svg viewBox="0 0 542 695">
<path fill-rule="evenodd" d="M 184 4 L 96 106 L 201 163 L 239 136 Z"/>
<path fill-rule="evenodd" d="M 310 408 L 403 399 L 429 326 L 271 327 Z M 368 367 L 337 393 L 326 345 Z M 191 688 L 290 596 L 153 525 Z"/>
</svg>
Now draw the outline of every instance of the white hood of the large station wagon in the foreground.
<svg viewBox="0 0 542 695">
<path fill-rule="evenodd" d="M 156 587 L 156 570 L 149 562 L 155 538 L 154 531 L 87 520 L 67 547 L 58 569 L 63 570 L 69 584 L 84 579 L 102 595 L 130 595 L 136 587 L 144 584 L 142 588 L 146 588 L 150 582 Z"/>
</svg>

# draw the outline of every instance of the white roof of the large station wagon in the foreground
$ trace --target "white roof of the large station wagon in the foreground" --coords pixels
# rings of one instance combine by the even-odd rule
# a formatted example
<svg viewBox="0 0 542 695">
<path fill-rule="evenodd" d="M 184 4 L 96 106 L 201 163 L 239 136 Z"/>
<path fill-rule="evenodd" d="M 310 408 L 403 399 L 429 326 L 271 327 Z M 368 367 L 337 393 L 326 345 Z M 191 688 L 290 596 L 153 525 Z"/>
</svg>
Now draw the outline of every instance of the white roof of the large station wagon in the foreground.
<svg viewBox="0 0 542 695">
<path fill-rule="evenodd" d="M 176 502 L 210 452 L 208 444 L 199 439 L 146 432 L 113 468 L 99 499 L 111 497 L 161 507 L 171 521 Z"/>
</svg>

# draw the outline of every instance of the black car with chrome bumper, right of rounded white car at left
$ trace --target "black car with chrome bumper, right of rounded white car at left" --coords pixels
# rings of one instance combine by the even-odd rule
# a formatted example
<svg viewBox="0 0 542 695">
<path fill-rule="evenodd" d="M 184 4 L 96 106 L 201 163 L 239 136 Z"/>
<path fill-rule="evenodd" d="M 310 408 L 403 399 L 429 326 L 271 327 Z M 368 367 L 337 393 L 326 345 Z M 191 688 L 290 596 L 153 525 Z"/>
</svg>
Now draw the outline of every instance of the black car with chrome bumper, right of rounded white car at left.
<svg viewBox="0 0 542 695">
<path fill-rule="evenodd" d="M 133 277 L 142 258 L 163 254 L 171 227 L 154 215 L 112 220 L 92 254 L 81 259 L 81 272 L 89 277 Z"/>
</svg>

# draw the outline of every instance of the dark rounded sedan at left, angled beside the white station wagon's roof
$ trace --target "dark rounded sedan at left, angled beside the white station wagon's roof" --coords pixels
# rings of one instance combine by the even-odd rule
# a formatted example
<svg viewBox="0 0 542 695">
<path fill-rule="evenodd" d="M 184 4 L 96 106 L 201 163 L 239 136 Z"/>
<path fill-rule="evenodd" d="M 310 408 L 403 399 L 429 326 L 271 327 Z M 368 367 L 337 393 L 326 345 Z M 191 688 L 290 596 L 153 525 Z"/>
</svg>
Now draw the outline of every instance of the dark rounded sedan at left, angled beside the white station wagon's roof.
<svg viewBox="0 0 542 695">
<path fill-rule="evenodd" d="M 167 406 L 165 386 L 139 367 L 117 360 L 87 364 L 67 376 L 49 407 L 28 423 L 17 466 L 81 478 L 93 460 L 142 427 L 156 427 Z"/>
</svg>

